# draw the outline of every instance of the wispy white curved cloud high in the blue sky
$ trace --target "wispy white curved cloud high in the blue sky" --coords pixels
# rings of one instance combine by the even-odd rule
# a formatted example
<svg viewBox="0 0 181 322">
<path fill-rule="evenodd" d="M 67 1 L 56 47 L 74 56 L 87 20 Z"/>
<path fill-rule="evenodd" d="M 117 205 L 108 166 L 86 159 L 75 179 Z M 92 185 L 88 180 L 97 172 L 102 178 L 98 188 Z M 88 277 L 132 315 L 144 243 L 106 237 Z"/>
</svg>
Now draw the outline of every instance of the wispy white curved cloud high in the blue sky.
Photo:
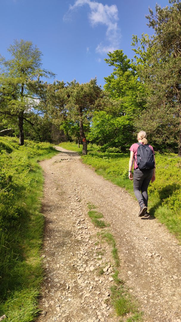
<svg viewBox="0 0 181 322">
<path fill-rule="evenodd" d="M 70 14 L 78 7 L 88 5 L 90 12 L 88 14 L 91 25 L 97 26 L 104 24 L 107 27 L 106 41 L 107 45 L 103 42 L 99 43 L 95 49 L 97 53 L 103 54 L 113 52 L 119 48 L 121 39 L 121 30 L 118 27 L 118 9 L 116 5 L 103 5 L 100 2 L 91 0 L 76 0 L 74 5 L 69 6 L 68 13 L 65 14 L 64 20 L 70 19 Z"/>
</svg>

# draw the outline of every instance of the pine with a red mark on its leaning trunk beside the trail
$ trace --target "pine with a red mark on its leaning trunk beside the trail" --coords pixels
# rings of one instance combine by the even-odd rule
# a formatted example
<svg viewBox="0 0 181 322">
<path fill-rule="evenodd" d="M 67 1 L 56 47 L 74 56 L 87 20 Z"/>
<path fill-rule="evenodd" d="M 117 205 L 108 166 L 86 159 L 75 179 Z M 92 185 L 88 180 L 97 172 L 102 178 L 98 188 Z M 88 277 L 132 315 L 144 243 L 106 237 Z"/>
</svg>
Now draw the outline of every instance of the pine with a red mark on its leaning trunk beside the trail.
<svg viewBox="0 0 181 322">
<path fill-rule="evenodd" d="M 83 143 L 82 153 L 86 155 L 85 125 L 90 123 L 93 111 L 99 108 L 98 99 L 103 93 L 96 79 L 84 84 L 72 81 L 68 86 L 64 85 L 63 82 L 57 82 L 47 89 L 49 113 L 55 122 L 60 123 L 60 126 L 62 123 L 68 126 L 69 122 L 72 122 L 72 126 L 75 126 L 74 130 L 77 130 L 78 125 Z"/>
</svg>

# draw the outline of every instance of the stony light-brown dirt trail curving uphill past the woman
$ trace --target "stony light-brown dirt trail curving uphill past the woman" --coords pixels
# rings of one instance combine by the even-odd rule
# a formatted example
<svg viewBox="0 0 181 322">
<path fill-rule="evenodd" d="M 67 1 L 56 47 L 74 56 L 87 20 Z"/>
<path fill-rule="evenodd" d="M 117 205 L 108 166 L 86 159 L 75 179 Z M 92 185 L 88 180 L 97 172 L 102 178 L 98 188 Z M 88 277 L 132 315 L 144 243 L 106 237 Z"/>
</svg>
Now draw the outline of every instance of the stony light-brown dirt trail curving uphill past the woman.
<svg viewBox="0 0 181 322">
<path fill-rule="evenodd" d="M 112 267 L 98 276 L 99 265 L 111 261 L 110 250 L 95 246 L 98 230 L 87 216 L 87 202 L 97 205 L 111 224 L 120 277 L 138 299 L 143 320 L 181 322 L 181 246 L 176 238 L 156 219 L 138 217 L 137 202 L 82 164 L 77 153 L 57 149 L 59 155 L 41 162 L 46 276 L 37 322 L 119 321 L 106 304 Z"/>
</svg>

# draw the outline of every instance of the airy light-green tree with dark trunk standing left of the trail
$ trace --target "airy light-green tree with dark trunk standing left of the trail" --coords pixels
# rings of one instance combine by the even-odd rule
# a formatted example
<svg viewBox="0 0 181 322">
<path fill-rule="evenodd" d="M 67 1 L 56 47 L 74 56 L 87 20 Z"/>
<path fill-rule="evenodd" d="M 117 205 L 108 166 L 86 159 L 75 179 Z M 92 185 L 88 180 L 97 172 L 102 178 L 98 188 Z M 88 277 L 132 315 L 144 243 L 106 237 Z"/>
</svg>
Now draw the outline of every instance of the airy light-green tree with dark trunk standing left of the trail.
<svg viewBox="0 0 181 322">
<path fill-rule="evenodd" d="M 18 120 L 19 142 L 24 144 L 24 121 L 34 125 L 35 112 L 41 113 L 39 99 L 44 84 L 40 77 L 54 74 L 42 69 L 41 51 L 30 41 L 15 40 L 8 52 L 10 60 L 0 56 L 0 115 Z"/>
</svg>

